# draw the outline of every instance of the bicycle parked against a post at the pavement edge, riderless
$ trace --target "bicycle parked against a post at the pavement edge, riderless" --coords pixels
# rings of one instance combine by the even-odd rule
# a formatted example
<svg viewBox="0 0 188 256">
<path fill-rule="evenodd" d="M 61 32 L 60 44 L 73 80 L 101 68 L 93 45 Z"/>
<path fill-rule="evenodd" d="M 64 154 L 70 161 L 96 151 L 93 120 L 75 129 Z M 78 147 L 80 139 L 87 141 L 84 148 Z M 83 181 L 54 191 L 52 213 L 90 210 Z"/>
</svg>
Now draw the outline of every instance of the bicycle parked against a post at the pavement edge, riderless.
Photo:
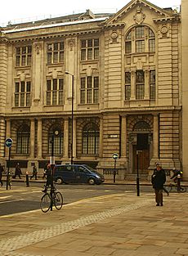
<svg viewBox="0 0 188 256">
<path fill-rule="evenodd" d="M 56 191 L 56 187 L 48 187 L 47 191 L 41 198 L 40 208 L 43 213 L 47 213 L 49 209 L 54 205 L 56 209 L 61 209 L 63 206 L 63 195 L 60 191 Z M 51 198 L 52 194 L 52 198 Z"/>
</svg>

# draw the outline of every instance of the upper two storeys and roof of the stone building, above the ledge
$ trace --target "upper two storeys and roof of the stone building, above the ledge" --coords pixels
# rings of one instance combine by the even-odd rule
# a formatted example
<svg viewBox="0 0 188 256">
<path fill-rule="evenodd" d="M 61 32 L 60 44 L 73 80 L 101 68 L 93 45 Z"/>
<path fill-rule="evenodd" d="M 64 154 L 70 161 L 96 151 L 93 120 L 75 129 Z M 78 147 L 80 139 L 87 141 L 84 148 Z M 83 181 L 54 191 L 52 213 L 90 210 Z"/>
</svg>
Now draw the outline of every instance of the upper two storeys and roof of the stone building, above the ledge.
<svg viewBox="0 0 188 256">
<path fill-rule="evenodd" d="M 172 109 L 181 106 L 180 14 L 145 0 L 117 13 L 9 25 L 0 37 L 2 112 Z M 69 73 L 67 75 L 66 73 Z"/>
</svg>

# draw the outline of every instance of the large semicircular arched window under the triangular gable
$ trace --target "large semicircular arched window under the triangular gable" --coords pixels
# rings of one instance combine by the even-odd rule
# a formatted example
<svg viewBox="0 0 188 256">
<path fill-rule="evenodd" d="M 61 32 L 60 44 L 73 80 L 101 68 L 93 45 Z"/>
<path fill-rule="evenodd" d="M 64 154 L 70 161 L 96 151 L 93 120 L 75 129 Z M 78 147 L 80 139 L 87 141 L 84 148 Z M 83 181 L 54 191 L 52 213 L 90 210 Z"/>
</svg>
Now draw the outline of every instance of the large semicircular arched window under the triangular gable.
<svg viewBox="0 0 188 256">
<path fill-rule="evenodd" d="M 141 52 L 155 52 L 154 32 L 145 25 L 132 28 L 125 38 L 126 54 Z"/>
</svg>

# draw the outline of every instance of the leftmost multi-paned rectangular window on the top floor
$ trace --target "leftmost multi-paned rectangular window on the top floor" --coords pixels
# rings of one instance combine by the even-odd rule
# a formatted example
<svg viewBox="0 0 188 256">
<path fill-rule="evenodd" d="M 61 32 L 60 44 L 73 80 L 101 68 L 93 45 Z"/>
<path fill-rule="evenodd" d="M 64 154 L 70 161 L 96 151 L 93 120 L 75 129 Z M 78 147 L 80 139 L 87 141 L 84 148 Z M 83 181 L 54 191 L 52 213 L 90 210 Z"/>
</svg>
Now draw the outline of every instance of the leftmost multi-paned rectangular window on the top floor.
<svg viewBox="0 0 188 256">
<path fill-rule="evenodd" d="M 31 65 L 32 47 L 16 47 L 16 66 Z"/>
</svg>

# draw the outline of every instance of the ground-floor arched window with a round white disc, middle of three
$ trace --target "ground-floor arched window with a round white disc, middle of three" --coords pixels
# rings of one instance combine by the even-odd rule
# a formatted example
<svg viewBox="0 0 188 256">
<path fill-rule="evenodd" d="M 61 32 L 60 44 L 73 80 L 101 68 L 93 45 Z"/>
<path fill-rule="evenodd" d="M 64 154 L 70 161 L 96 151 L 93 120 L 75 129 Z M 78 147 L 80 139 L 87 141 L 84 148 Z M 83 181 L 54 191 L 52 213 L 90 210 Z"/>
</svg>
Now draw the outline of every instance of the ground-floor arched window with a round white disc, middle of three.
<svg viewBox="0 0 188 256">
<path fill-rule="evenodd" d="M 53 149 L 52 149 L 53 144 Z M 48 132 L 48 154 L 52 155 L 63 154 L 63 132 L 59 126 L 52 126 Z"/>
</svg>

